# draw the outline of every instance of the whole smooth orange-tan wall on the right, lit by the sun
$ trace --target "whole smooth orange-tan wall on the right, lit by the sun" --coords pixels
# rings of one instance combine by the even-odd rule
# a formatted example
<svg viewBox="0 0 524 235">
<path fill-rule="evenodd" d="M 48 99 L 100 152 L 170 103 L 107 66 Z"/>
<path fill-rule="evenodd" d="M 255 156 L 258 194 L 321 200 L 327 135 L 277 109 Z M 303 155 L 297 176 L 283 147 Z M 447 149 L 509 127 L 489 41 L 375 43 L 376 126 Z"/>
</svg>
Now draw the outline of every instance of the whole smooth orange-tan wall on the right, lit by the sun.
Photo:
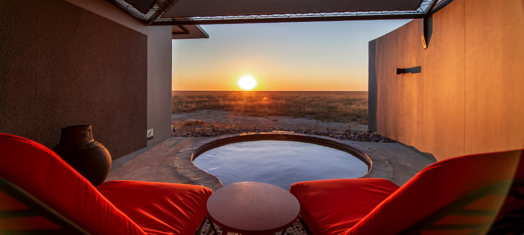
<svg viewBox="0 0 524 235">
<path fill-rule="evenodd" d="M 452 1 L 430 32 L 427 49 L 418 19 L 369 42 L 369 128 L 438 160 L 524 148 L 523 1 Z"/>
</svg>

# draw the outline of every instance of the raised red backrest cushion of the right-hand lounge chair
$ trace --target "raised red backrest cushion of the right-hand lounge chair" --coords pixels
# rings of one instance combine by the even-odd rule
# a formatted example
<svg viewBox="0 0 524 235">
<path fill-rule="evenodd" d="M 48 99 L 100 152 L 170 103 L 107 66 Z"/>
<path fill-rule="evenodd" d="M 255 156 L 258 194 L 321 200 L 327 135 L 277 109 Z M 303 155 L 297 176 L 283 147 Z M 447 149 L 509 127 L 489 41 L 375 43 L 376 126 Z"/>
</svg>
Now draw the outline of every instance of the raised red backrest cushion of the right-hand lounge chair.
<svg viewBox="0 0 524 235">
<path fill-rule="evenodd" d="M 433 163 L 370 211 L 348 234 L 396 234 L 479 188 L 512 180 L 521 152 L 475 154 Z"/>
</svg>

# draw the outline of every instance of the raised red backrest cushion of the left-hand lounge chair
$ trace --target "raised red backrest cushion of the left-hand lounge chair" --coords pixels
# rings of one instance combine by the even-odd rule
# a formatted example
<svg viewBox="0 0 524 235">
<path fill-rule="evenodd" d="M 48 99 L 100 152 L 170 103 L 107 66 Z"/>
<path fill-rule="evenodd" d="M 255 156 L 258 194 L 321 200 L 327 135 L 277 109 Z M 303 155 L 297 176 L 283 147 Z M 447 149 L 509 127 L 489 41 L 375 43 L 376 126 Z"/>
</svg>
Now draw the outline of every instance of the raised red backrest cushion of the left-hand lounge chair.
<svg viewBox="0 0 524 235">
<path fill-rule="evenodd" d="M 45 146 L 0 133 L 0 154 L 0 177 L 23 188 L 84 230 L 92 234 L 146 234 Z M 31 221 L 40 223 L 38 219 Z M 49 226 L 45 220 L 41 223 L 41 228 Z M 7 225 L 0 223 L 0 230 L 3 226 Z M 39 228 L 36 224 L 31 227 Z"/>
</svg>

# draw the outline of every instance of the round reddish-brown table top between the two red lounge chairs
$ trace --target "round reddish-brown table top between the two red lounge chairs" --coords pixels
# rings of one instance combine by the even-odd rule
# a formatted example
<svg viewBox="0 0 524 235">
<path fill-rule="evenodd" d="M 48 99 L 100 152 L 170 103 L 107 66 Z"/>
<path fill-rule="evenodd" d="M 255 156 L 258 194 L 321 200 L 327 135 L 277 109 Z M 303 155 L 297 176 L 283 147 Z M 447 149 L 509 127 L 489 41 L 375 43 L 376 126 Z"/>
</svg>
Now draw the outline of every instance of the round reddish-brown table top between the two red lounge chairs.
<svg viewBox="0 0 524 235">
<path fill-rule="evenodd" d="M 297 220 L 300 204 L 278 186 L 241 182 L 215 191 L 208 199 L 211 220 L 228 231 L 264 234 L 281 231 Z"/>
</svg>

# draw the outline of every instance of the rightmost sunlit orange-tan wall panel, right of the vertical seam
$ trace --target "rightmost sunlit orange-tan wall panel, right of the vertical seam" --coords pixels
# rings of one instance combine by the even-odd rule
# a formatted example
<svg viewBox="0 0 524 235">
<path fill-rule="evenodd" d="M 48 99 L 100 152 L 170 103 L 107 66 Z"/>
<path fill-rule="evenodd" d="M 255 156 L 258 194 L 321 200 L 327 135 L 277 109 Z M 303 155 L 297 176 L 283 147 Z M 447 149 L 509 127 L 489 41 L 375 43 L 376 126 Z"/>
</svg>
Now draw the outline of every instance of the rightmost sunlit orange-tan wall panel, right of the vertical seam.
<svg viewBox="0 0 524 235">
<path fill-rule="evenodd" d="M 465 4 L 467 153 L 524 147 L 524 1 Z"/>
</svg>

